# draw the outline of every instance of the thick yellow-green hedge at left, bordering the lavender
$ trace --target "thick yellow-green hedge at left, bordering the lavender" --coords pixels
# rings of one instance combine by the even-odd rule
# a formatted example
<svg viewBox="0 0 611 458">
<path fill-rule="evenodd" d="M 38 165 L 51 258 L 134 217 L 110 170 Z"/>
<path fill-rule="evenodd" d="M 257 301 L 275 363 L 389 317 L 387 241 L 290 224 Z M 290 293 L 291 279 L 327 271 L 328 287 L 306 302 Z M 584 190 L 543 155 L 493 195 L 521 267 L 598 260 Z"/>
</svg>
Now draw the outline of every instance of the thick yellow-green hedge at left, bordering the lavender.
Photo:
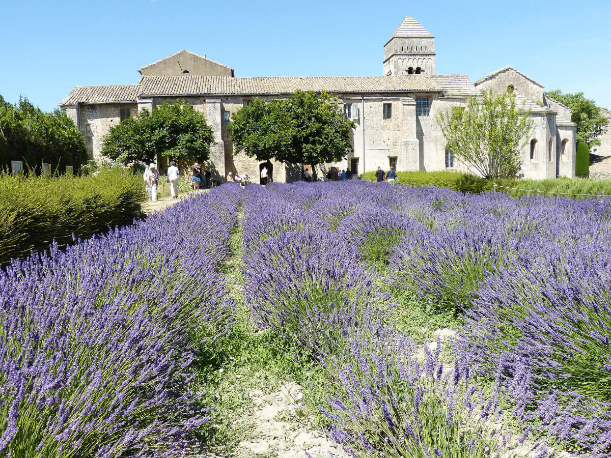
<svg viewBox="0 0 611 458">
<path fill-rule="evenodd" d="M 60 246 L 141 217 L 142 176 L 103 170 L 97 176 L 44 178 L 0 173 L 0 263 L 30 250 Z"/>
</svg>

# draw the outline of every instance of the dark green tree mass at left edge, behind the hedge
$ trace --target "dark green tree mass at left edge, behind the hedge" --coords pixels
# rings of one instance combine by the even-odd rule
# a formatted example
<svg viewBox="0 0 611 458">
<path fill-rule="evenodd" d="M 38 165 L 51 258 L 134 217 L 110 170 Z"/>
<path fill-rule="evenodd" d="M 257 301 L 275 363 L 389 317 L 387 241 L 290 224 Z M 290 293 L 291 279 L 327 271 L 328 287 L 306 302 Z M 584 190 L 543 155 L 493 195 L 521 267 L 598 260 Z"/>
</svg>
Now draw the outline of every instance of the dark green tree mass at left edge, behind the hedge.
<svg viewBox="0 0 611 458">
<path fill-rule="evenodd" d="M 85 139 L 65 112 L 43 112 L 27 98 L 12 105 L 0 95 L 0 167 L 10 161 L 24 161 L 37 172 L 42 162 L 78 169 L 87 161 Z"/>
</svg>

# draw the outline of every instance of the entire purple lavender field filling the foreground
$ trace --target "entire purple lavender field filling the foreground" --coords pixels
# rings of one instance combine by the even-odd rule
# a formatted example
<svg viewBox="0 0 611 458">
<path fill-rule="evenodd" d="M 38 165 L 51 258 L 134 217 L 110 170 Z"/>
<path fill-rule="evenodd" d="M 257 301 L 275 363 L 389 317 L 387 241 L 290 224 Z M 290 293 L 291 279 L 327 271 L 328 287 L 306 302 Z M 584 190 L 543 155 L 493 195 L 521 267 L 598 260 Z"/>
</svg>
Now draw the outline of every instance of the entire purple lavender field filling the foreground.
<svg viewBox="0 0 611 458">
<path fill-rule="evenodd" d="M 276 379 L 348 456 L 611 456 L 610 228 L 607 201 L 229 184 L 52 248 L 0 275 L 0 457 L 236 450 Z"/>
</svg>

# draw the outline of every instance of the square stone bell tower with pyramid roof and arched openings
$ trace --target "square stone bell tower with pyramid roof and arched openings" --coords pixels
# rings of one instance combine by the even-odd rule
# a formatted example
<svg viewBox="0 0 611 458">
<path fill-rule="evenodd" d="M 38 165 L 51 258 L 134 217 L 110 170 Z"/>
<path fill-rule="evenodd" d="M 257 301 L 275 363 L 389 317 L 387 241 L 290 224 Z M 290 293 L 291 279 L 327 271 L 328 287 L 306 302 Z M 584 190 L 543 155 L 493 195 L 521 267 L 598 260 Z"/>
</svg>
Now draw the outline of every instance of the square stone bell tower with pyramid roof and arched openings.
<svg viewBox="0 0 611 458">
<path fill-rule="evenodd" d="M 384 45 L 384 75 L 435 75 L 435 37 L 411 16 Z"/>
</svg>

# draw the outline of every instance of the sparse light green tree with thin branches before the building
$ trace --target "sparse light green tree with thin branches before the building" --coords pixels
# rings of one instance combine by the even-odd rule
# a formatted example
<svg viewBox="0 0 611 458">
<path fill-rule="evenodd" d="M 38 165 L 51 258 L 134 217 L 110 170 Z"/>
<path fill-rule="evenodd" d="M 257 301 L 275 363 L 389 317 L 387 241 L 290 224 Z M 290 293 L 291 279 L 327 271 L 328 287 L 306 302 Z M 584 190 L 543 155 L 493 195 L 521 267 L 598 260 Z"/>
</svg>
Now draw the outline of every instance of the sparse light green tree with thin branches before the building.
<svg viewBox="0 0 611 458">
<path fill-rule="evenodd" d="M 486 178 L 514 178 L 533 122 L 513 92 L 482 96 L 481 101 L 471 97 L 466 106 L 437 114 L 447 148 Z"/>
</svg>

